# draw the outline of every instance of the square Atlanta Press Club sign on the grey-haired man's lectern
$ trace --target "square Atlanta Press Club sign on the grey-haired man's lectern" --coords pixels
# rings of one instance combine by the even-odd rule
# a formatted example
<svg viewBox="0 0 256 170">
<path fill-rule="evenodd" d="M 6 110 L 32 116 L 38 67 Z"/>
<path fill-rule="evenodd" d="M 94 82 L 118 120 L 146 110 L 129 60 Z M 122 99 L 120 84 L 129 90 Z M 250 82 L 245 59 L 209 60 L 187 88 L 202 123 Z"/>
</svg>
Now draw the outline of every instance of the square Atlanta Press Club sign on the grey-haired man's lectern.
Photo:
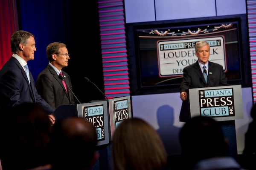
<svg viewBox="0 0 256 170">
<path fill-rule="evenodd" d="M 233 88 L 199 90 L 201 116 L 235 116 Z"/>
</svg>

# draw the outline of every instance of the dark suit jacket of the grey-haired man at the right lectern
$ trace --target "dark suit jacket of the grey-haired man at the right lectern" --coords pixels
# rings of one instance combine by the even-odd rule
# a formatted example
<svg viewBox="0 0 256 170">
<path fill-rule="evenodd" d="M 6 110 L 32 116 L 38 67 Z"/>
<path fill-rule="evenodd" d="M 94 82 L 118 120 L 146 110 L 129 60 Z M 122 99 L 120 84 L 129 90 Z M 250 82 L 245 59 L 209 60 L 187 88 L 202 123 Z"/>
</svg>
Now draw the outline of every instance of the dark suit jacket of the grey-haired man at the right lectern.
<svg viewBox="0 0 256 170">
<path fill-rule="evenodd" d="M 198 61 L 183 69 L 183 80 L 180 84 L 180 92 L 187 92 L 188 96 L 187 100 L 182 102 L 180 109 L 180 121 L 186 122 L 190 119 L 189 89 L 229 85 L 227 84 L 227 78 L 223 67 L 218 63 L 208 62 L 209 68 L 207 83 L 204 80 L 204 75 Z"/>
</svg>

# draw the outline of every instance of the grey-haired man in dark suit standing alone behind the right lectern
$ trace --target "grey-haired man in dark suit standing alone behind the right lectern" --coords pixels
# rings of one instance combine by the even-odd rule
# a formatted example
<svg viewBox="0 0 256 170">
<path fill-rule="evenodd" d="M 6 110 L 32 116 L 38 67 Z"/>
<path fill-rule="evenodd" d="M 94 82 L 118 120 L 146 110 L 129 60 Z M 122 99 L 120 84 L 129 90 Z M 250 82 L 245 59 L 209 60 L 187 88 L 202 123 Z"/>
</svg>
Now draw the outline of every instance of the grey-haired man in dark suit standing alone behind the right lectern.
<svg viewBox="0 0 256 170">
<path fill-rule="evenodd" d="M 198 61 L 183 69 L 183 80 L 180 84 L 180 98 L 183 101 L 180 121 L 183 122 L 190 119 L 189 100 L 187 100 L 190 88 L 228 85 L 223 67 L 218 63 L 209 61 L 210 46 L 206 41 L 199 41 L 195 44 L 195 55 Z M 203 66 L 206 67 L 206 71 L 204 71 Z M 207 74 L 207 82 L 204 79 L 204 72 Z"/>
</svg>

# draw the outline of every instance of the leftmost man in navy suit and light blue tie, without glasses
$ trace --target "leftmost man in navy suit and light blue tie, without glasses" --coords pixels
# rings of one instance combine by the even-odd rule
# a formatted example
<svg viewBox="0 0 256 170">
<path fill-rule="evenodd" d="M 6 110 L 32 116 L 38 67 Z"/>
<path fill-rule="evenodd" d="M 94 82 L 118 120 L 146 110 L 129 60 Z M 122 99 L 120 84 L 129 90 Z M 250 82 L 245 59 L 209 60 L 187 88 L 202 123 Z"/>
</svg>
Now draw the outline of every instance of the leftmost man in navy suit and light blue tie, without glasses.
<svg viewBox="0 0 256 170">
<path fill-rule="evenodd" d="M 25 66 L 30 60 L 34 60 L 35 38 L 30 32 L 19 30 L 11 37 L 12 57 L 0 70 L 0 115 L 5 111 L 21 103 L 34 103 L 41 105 L 49 114 L 52 124 L 55 117 L 53 109 L 38 95 L 31 72 L 27 72 Z M 28 78 L 29 77 L 29 78 Z"/>
</svg>

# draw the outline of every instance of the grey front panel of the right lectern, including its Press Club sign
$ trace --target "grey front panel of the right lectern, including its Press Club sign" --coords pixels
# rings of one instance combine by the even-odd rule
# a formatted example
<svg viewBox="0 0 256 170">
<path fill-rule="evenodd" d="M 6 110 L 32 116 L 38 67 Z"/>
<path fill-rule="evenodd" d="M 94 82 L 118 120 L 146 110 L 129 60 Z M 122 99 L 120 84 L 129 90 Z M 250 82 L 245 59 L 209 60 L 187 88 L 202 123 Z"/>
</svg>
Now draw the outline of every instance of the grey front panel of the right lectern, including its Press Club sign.
<svg viewBox="0 0 256 170">
<path fill-rule="evenodd" d="M 241 85 L 189 89 L 190 116 L 208 116 L 217 121 L 243 118 Z"/>
</svg>

